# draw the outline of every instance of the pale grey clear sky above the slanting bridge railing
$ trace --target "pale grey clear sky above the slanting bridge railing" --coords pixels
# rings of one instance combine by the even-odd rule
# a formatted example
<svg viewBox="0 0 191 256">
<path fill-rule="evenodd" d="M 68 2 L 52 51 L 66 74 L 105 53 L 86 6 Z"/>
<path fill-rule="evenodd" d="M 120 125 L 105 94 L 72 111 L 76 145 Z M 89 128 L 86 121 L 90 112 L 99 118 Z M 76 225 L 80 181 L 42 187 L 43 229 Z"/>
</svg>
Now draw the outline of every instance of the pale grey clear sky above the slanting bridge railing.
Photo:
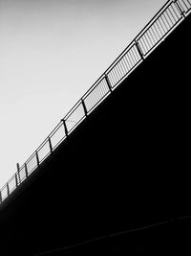
<svg viewBox="0 0 191 256">
<path fill-rule="evenodd" d="M 166 0 L 0 0 L 0 187 Z"/>
</svg>

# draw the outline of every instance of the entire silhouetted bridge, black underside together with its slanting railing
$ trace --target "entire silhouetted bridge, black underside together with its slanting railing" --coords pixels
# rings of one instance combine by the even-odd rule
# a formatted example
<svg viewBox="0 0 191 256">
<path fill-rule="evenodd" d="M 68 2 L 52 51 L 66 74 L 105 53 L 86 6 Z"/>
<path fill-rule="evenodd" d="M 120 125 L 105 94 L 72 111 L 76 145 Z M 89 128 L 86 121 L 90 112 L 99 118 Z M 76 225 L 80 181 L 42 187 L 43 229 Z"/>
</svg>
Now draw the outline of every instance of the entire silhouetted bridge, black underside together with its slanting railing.
<svg viewBox="0 0 191 256">
<path fill-rule="evenodd" d="M 190 9 L 168 1 L 18 166 L 2 255 L 189 249 Z"/>
</svg>

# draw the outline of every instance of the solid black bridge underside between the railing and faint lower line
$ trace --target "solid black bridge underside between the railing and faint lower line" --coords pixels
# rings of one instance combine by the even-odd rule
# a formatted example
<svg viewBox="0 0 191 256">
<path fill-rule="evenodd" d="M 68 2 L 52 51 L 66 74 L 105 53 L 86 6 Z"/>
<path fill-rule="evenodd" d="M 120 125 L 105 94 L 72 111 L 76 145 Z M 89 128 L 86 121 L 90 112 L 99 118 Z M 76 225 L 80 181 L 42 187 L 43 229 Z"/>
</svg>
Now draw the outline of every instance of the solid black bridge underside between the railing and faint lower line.
<svg viewBox="0 0 191 256">
<path fill-rule="evenodd" d="M 2 255 L 32 255 L 191 214 L 190 26 L 189 16 L 7 200 Z M 133 248 L 129 236 L 123 252 L 183 249 L 183 231 L 176 243 L 166 235 L 160 244 L 161 233 L 153 234 L 149 244 L 140 233 Z"/>
</svg>

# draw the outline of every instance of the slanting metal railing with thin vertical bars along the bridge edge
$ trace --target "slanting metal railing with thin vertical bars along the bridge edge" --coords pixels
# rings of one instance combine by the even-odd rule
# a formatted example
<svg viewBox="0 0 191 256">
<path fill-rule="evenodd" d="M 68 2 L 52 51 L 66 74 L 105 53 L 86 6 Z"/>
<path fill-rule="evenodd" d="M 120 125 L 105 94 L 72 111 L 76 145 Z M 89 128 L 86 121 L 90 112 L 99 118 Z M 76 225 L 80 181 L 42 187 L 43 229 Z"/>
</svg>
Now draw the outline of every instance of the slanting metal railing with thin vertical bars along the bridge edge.
<svg viewBox="0 0 191 256">
<path fill-rule="evenodd" d="M 8 198 L 41 163 L 53 153 L 117 85 L 123 81 L 159 43 L 177 27 L 191 10 L 191 0 L 169 0 L 136 38 L 126 47 L 110 67 L 74 105 L 43 143 L 32 153 L 17 172 L 0 190 L 0 203 Z"/>
</svg>

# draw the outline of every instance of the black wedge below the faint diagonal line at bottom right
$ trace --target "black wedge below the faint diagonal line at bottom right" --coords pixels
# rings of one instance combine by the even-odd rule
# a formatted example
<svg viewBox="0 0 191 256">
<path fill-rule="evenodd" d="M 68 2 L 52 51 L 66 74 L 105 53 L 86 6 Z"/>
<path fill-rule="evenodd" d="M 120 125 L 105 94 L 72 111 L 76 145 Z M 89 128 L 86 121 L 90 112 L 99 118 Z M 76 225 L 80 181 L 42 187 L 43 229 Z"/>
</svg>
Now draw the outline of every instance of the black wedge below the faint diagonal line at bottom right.
<svg viewBox="0 0 191 256">
<path fill-rule="evenodd" d="M 190 217 L 180 220 L 164 221 L 135 230 L 99 237 L 81 244 L 56 248 L 51 251 L 36 254 L 36 256 L 93 252 L 98 255 L 108 253 L 142 255 L 144 253 L 163 254 L 164 252 L 169 255 L 172 253 L 182 254 L 190 251 L 190 239 L 188 237 L 190 228 Z"/>
</svg>

